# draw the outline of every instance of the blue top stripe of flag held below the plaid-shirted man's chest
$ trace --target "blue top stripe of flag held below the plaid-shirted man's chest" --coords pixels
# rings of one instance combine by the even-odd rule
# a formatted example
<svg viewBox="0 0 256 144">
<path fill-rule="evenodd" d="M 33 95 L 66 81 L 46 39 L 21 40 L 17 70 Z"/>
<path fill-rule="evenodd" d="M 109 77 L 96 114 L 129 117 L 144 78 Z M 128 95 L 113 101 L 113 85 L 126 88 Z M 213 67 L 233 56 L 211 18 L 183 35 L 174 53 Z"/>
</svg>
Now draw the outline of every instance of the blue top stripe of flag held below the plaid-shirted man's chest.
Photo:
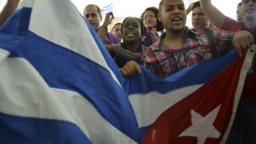
<svg viewBox="0 0 256 144">
<path fill-rule="evenodd" d="M 193 84 L 203 84 L 225 69 L 237 57 L 236 51 L 230 51 L 225 56 L 214 58 L 211 61 L 204 61 L 192 67 L 188 67 L 172 76 L 161 79 L 150 74 L 146 68 L 142 68 L 142 74 L 125 79 L 125 92 L 129 95 L 134 93 L 148 93 L 156 91 L 168 93 L 177 88 L 190 86 Z M 191 79 L 193 77 L 193 79 Z"/>
</svg>

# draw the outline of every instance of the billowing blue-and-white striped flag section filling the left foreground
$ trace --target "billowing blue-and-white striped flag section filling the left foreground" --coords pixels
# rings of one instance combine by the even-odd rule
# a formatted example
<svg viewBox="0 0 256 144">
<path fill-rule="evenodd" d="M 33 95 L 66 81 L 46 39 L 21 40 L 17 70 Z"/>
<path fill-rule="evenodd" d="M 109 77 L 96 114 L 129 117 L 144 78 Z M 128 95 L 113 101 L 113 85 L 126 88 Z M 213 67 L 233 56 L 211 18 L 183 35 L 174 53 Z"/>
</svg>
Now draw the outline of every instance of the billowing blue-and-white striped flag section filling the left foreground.
<svg viewBox="0 0 256 144">
<path fill-rule="evenodd" d="M 0 143 L 140 143 L 122 76 L 68 0 L 26 0 L 0 30 Z"/>
</svg>

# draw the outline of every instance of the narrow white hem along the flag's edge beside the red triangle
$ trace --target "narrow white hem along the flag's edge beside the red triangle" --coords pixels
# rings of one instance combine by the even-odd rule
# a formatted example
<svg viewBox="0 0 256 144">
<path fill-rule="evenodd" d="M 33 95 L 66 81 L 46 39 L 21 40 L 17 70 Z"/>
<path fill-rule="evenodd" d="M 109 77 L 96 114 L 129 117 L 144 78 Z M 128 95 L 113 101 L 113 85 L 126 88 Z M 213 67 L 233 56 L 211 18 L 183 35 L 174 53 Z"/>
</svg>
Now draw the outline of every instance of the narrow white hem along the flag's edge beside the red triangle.
<svg viewBox="0 0 256 144">
<path fill-rule="evenodd" d="M 253 45 L 252 47 L 256 48 L 256 45 Z M 252 49 L 252 47 L 250 49 Z M 250 49 L 246 53 L 246 57 L 244 59 L 243 66 L 241 68 L 239 81 L 238 81 L 237 88 L 236 88 L 236 94 L 235 94 L 235 99 L 234 99 L 232 116 L 230 118 L 230 122 L 228 124 L 227 130 L 225 131 L 225 134 L 223 135 L 223 138 L 220 141 L 220 144 L 225 144 L 226 143 L 227 138 L 228 138 L 228 134 L 231 130 L 234 119 L 236 117 L 237 106 L 239 104 L 239 100 L 241 98 L 241 94 L 242 94 L 243 88 L 244 88 L 244 81 L 245 81 L 245 78 L 248 74 L 248 70 L 249 70 L 250 66 L 252 65 L 253 57 L 255 56 L 255 52 L 256 52 L 256 51 L 252 52 L 252 51 L 250 51 Z"/>
</svg>

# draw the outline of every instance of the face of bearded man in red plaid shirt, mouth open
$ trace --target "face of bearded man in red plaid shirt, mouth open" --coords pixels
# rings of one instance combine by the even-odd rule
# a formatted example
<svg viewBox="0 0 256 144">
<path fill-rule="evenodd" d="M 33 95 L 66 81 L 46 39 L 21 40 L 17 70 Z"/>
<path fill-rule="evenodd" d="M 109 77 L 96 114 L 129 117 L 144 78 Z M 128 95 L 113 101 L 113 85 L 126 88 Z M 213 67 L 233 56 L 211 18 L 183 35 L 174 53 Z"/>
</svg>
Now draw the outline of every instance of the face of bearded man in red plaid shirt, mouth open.
<svg viewBox="0 0 256 144">
<path fill-rule="evenodd" d="M 159 20 L 166 31 L 183 31 L 186 25 L 186 10 L 182 0 L 163 0 Z"/>
</svg>

